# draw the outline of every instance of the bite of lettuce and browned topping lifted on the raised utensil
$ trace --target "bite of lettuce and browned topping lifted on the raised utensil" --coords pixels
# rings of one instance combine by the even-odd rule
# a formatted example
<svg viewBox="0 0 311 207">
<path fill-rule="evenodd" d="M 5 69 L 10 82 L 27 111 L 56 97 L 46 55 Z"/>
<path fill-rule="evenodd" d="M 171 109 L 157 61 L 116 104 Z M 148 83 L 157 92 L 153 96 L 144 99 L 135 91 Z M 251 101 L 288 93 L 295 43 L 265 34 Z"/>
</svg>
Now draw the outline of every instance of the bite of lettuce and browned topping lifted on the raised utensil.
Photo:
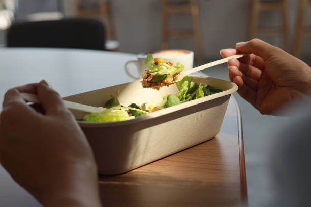
<svg viewBox="0 0 311 207">
<path fill-rule="evenodd" d="M 157 90 L 178 80 L 178 75 L 184 69 L 184 66 L 179 62 L 174 65 L 173 62 L 165 61 L 162 58 L 153 59 L 150 53 L 147 55 L 145 64 L 149 67 L 149 70 L 142 74 L 142 86 Z"/>
</svg>

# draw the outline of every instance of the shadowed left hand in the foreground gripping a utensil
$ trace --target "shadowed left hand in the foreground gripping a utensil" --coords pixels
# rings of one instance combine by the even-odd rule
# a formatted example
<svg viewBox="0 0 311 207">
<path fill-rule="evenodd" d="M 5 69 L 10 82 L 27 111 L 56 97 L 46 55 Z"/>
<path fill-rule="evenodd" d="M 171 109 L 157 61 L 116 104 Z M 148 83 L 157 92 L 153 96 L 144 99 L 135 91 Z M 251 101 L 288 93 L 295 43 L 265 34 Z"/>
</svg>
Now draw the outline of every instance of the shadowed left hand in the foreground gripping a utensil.
<svg viewBox="0 0 311 207">
<path fill-rule="evenodd" d="M 45 115 L 27 105 L 20 92 L 37 94 Z M 58 93 L 45 81 L 6 93 L 0 162 L 45 206 L 100 206 L 91 148 Z"/>
</svg>

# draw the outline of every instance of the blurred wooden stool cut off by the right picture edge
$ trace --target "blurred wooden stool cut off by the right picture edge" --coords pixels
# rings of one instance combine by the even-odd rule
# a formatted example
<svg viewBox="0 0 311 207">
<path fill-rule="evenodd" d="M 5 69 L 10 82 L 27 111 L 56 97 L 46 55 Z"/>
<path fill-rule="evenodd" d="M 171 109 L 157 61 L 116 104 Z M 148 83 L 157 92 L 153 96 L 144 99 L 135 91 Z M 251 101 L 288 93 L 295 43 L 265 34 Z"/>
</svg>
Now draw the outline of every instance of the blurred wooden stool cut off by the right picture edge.
<svg viewBox="0 0 311 207">
<path fill-rule="evenodd" d="M 296 23 L 296 34 L 295 34 L 295 45 L 293 49 L 293 54 L 296 57 L 300 57 L 302 36 L 304 33 L 311 33 L 311 28 L 304 27 L 304 21 L 306 16 L 306 9 L 311 4 L 311 0 L 300 0 L 298 11 L 297 11 L 297 23 Z"/>
</svg>

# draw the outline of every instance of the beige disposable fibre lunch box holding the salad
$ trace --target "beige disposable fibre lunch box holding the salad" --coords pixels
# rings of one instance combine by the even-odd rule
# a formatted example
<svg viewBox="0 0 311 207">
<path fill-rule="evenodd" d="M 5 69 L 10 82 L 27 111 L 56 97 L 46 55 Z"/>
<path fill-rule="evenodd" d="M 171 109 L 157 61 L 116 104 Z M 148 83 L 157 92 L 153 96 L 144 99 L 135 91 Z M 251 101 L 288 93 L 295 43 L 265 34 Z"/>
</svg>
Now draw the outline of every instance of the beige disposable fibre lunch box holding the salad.
<svg viewBox="0 0 311 207">
<path fill-rule="evenodd" d="M 238 87 L 225 80 L 193 77 L 198 84 L 206 83 L 223 91 L 132 120 L 106 123 L 78 121 L 94 152 L 100 174 L 130 171 L 210 140 L 219 133 L 229 98 Z M 64 100 L 100 107 L 112 95 L 123 106 L 145 102 L 157 105 L 166 94 L 177 93 L 176 84 L 157 91 L 143 88 L 140 81 L 134 81 L 67 96 Z M 87 114 L 79 111 L 72 113 L 76 119 L 82 119 Z"/>
</svg>

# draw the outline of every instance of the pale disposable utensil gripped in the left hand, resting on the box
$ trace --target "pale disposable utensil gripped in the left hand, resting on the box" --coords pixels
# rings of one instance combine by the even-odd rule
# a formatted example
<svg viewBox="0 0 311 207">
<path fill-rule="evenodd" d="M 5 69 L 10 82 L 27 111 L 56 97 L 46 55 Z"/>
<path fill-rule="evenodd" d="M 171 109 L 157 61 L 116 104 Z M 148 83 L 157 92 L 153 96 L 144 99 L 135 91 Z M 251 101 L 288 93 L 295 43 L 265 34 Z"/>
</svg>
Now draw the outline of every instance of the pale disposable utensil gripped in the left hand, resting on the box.
<svg viewBox="0 0 311 207">
<path fill-rule="evenodd" d="M 35 94 L 31 94 L 31 93 L 20 93 L 20 94 L 25 100 L 27 100 L 29 102 L 40 103 L 38 96 Z M 63 100 L 63 102 L 68 109 L 82 111 L 82 112 L 94 113 L 94 112 L 102 112 L 102 111 L 106 110 L 103 107 L 91 107 L 88 105 L 84 105 L 84 104 L 76 103 L 76 102 L 71 102 L 68 100 Z"/>
</svg>

